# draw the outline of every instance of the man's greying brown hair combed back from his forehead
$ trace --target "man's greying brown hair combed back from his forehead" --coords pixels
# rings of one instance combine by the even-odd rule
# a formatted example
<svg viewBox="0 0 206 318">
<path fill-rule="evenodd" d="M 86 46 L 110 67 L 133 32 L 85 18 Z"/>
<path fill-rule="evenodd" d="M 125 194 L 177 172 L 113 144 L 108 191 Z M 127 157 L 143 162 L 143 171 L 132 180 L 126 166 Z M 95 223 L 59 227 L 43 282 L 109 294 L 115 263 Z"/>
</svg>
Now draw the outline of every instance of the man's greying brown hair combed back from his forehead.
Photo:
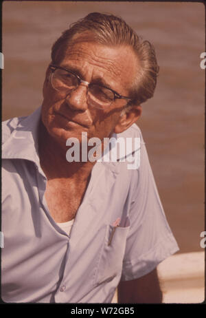
<svg viewBox="0 0 206 318">
<path fill-rule="evenodd" d="M 52 46 L 52 63 L 58 65 L 65 56 L 67 47 L 72 44 L 73 38 L 75 42 L 78 36 L 87 35 L 88 32 L 97 43 L 108 46 L 129 45 L 133 48 L 139 63 L 137 63 L 137 76 L 129 88 L 133 103 L 128 107 L 144 103 L 151 98 L 155 92 L 159 73 L 155 49 L 149 41 L 141 39 L 141 36 L 138 36 L 121 17 L 113 14 L 93 12 L 72 23 Z M 86 40 L 84 37 L 84 41 L 87 41 L 87 36 Z"/>
</svg>

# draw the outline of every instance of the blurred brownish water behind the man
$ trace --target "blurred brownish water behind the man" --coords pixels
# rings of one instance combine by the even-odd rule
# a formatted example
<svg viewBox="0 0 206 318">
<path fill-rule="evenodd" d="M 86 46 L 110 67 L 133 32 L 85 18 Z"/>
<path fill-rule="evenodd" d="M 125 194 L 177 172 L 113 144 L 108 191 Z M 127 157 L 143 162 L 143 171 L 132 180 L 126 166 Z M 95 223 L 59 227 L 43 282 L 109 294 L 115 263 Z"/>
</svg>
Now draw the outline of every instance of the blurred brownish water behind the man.
<svg viewBox="0 0 206 318">
<path fill-rule="evenodd" d="M 181 252 L 201 250 L 204 231 L 205 52 L 203 3 L 3 2 L 2 114 L 31 114 L 41 105 L 54 41 L 89 12 L 121 16 L 156 48 L 154 98 L 138 122 L 168 221 Z"/>
</svg>

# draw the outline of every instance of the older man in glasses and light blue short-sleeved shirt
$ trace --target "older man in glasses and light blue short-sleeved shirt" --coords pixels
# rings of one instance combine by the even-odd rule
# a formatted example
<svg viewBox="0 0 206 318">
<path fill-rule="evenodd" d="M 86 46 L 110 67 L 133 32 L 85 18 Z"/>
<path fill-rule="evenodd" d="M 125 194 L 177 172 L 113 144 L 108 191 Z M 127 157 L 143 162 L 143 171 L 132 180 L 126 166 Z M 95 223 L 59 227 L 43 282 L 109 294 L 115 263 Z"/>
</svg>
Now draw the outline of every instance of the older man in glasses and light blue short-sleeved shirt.
<svg viewBox="0 0 206 318">
<path fill-rule="evenodd" d="M 112 14 L 54 43 L 43 104 L 3 123 L 4 301 L 109 303 L 117 286 L 119 302 L 162 301 L 157 264 L 178 246 L 135 124 L 158 70 L 152 45 Z M 139 167 L 69 162 L 67 140 L 82 145 L 82 132 L 102 151 L 104 138 L 140 138 Z"/>
</svg>

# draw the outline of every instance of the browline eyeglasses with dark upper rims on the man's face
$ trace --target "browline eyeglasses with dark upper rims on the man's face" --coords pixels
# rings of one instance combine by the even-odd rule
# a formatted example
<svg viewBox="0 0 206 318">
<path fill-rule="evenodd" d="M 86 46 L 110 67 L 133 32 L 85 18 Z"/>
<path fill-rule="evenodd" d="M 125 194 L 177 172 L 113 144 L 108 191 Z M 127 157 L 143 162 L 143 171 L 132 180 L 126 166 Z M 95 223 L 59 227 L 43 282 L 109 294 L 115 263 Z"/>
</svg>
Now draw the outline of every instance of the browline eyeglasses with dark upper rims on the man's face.
<svg viewBox="0 0 206 318">
<path fill-rule="evenodd" d="M 83 83 L 86 85 L 87 102 L 93 107 L 98 107 L 101 109 L 108 107 L 116 99 L 125 99 L 131 101 L 130 98 L 122 96 L 113 89 L 105 87 L 104 85 L 83 81 L 80 76 L 72 73 L 69 70 L 66 70 L 64 67 L 49 65 L 49 69 L 52 71 L 52 87 L 65 96 L 77 89 L 80 84 Z"/>
</svg>

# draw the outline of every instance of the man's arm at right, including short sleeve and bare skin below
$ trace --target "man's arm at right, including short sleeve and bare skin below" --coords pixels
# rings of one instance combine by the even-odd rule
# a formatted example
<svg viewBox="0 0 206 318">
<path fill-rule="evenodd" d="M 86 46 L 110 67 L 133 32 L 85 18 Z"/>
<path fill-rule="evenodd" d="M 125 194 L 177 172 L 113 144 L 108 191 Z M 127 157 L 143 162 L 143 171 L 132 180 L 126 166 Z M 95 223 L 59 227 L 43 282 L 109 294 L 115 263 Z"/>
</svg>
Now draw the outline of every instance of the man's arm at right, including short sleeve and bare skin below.
<svg viewBox="0 0 206 318">
<path fill-rule="evenodd" d="M 128 204 L 130 229 L 118 300 L 120 303 L 161 303 L 156 268 L 179 248 L 165 218 L 142 136 L 140 162 L 131 179 Z"/>
</svg>

